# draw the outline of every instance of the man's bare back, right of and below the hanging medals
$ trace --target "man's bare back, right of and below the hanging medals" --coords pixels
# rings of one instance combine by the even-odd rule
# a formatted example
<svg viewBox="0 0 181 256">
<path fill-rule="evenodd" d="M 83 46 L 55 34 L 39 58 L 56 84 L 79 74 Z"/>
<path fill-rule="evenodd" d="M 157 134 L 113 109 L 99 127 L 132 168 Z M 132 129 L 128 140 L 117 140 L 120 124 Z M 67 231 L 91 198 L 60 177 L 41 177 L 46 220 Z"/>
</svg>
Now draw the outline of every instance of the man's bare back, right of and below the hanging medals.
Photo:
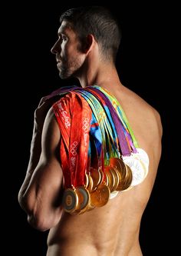
<svg viewBox="0 0 181 256">
<path fill-rule="evenodd" d="M 140 256 L 140 220 L 156 178 L 160 161 L 160 115 L 128 88 L 110 91 L 126 113 L 138 145 L 150 158 L 146 179 L 121 191 L 101 208 L 84 214 L 62 213 L 48 235 L 47 256 Z"/>
</svg>

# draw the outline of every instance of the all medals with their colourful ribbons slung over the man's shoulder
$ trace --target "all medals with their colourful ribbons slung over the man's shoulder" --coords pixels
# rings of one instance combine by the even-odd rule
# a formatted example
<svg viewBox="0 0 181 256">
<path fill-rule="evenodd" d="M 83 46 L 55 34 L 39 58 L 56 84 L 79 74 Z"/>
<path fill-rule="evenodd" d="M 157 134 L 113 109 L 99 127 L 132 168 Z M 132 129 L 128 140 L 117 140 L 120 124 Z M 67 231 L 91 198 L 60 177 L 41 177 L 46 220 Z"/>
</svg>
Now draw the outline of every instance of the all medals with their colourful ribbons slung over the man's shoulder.
<svg viewBox="0 0 181 256">
<path fill-rule="evenodd" d="M 83 214 L 104 206 L 146 178 L 148 155 L 109 91 L 69 86 L 47 98 L 54 95 L 61 95 L 53 109 L 61 131 L 64 211 Z"/>
</svg>

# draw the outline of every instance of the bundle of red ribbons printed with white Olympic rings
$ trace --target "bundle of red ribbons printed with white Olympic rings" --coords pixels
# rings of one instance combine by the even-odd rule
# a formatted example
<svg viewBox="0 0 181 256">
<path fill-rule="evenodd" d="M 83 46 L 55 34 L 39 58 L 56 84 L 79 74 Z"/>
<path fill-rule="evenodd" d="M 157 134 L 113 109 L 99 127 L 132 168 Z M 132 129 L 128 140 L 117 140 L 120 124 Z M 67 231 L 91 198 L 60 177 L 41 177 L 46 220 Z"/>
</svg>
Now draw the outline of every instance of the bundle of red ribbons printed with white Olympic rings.
<svg viewBox="0 0 181 256">
<path fill-rule="evenodd" d="M 91 109 L 80 95 L 69 93 L 53 105 L 61 130 L 61 166 L 65 187 L 84 185 Z M 78 132 L 77 132 L 78 131 Z"/>
</svg>

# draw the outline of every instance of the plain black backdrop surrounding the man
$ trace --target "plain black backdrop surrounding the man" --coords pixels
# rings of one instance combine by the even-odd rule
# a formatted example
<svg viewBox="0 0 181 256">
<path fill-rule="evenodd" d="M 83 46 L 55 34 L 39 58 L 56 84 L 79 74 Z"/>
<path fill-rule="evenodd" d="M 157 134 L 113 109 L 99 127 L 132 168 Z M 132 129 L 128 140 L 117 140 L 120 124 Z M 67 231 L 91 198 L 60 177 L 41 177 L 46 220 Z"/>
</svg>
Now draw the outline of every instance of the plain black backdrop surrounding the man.
<svg viewBox="0 0 181 256">
<path fill-rule="evenodd" d="M 101 2 L 91 4 L 104 5 Z M 54 55 L 50 49 L 57 39 L 59 15 L 67 8 L 86 5 L 82 2 L 9 3 L 5 8 L 4 111 L 6 142 L 4 146 L 5 190 L 2 193 L 5 214 L 5 255 L 43 256 L 47 232 L 36 231 L 27 222 L 18 205 L 18 190 L 25 178 L 33 128 L 33 115 L 41 97 L 74 80 L 61 81 Z M 117 56 L 117 71 L 123 85 L 137 92 L 160 112 L 163 122 L 163 154 L 153 192 L 140 228 L 140 244 L 144 256 L 157 255 L 172 247 L 173 200 L 170 199 L 173 153 L 170 150 L 171 109 L 170 80 L 172 76 L 169 38 L 169 5 L 153 2 L 111 2 L 107 5 L 117 15 L 122 27 L 122 42 Z M 4 74 L 3 74 L 4 75 Z M 135 110 L 136 111 L 136 110 Z M 4 125 L 5 124 L 5 125 Z M 3 139 L 3 138 L 2 138 Z M 6 199 L 6 195 L 8 199 Z M 171 217 L 172 216 L 172 217 Z M 4 219 L 3 219 L 4 220 Z M 88 254 L 87 254 L 88 255 Z"/>
</svg>

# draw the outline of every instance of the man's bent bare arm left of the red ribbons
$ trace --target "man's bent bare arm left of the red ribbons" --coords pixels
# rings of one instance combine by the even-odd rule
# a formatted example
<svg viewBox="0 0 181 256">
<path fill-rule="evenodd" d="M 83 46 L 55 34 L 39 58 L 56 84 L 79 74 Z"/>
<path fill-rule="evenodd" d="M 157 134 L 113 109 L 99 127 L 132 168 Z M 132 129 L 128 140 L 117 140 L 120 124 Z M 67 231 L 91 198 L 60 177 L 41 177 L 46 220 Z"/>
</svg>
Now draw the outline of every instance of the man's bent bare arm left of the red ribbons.
<svg viewBox="0 0 181 256">
<path fill-rule="evenodd" d="M 28 214 L 28 222 L 41 231 L 53 227 L 61 218 L 60 139 L 51 108 L 44 120 L 42 135 L 35 122 L 28 171 L 18 194 L 19 204 Z"/>
</svg>

